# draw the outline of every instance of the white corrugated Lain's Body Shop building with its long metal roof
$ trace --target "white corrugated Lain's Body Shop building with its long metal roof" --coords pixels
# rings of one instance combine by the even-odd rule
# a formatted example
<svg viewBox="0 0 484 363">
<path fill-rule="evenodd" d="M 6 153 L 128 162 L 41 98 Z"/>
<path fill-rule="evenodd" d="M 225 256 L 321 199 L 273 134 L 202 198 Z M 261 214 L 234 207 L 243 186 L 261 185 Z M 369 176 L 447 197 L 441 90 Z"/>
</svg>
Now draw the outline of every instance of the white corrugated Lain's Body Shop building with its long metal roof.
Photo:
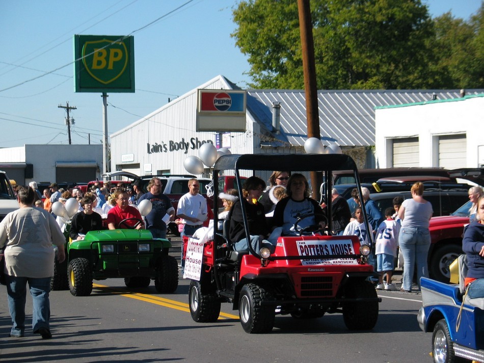
<svg viewBox="0 0 484 363">
<path fill-rule="evenodd" d="M 197 89 L 239 90 L 219 75 L 111 135 L 111 170 L 139 175 L 184 174 L 183 161 L 199 156 L 203 142 L 217 144 L 217 133 L 195 131 Z M 479 93 L 473 90 L 468 93 Z M 321 140 L 336 143 L 359 167 L 375 167 L 375 108 L 460 97 L 459 90 L 318 91 Z M 274 103 L 280 105 L 273 126 Z M 304 90 L 248 90 L 246 132 L 225 134 L 221 147 L 232 153 L 304 152 L 307 139 Z M 398 127 L 404 127 L 405 124 Z M 430 165 L 426 165 L 430 166 Z"/>
</svg>

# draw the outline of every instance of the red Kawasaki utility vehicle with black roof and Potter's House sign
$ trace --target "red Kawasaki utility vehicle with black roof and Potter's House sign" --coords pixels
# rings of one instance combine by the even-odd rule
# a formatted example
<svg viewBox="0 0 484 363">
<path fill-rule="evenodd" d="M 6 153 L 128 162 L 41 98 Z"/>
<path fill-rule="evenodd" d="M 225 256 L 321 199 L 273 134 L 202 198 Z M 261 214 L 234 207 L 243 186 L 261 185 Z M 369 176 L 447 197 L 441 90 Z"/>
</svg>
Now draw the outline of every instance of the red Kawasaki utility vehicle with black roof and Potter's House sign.
<svg viewBox="0 0 484 363">
<path fill-rule="evenodd" d="M 261 175 L 260 171 L 273 168 L 301 172 L 308 179 L 311 171 L 324 171 L 331 176 L 333 170 L 351 169 L 359 180 L 354 161 L 339 154 L 224 155 L 214 165 L 213 180 L 231 171 L 240 191 L 243 177 Z M 327 185 L 325 190 L 330 201 L 331 189 Z M 216 183 L 214 197 L 222 191 Z M 319 225 L 298 227 L 301 220 L 310 216 L 302 215 L 294 226 L 299 236 L 280 237 L 274 253 L 268 248 L 254 251 L 250 244 L 250 252 L 235 251 L 233 244 L 237 241 L 228 237 L 228 220 L 223 229 L 216 227 L 214 236 L 206 241 L 184 237 L 185 276 L 191 277 L 189 305 L 193 320 L 217 321 L 221 303 L 228 302 L 238 309 L 240 323 L 248 333 L 271 331 L 276 315 L 308 319 L 326 313 L 342 313 L 348 329 L 372 329 L 381 299 L 367 280 L 375 276 L 373 267 L 366 263 L 370 246 L 360 245 L 356 236 L 329 235 L 331 202 L 327 210 L 325 231 L 319 231 Z M 215 213 L 213 225 L 218 226 L 218 212 Z M 365 212 L 364 218 L 368 223 Z"/>
</svg>

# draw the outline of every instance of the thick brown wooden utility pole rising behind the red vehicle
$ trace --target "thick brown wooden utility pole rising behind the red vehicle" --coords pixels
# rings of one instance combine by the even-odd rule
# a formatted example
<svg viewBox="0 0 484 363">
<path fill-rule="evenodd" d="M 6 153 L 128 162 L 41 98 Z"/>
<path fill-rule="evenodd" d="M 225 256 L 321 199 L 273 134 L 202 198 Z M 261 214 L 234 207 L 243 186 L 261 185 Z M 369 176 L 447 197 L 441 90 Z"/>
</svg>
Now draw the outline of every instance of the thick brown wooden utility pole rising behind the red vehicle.
<svg viewBox="0 0 484 363">
<path fill-rule="evenodd" d="M 321 139 L 319 132 L 319 115 L 317 108 L 316 62 L 314 59 L 313 27 L 309 0 L 298 0 L 299 29 L 301 32 L 301 49 L 303 53 L 304 89 L 306 93 L 306 116 L 308 138 Z M 319 200 L 321 173 L 311 172 L 313 198 Z"/>
</svg>

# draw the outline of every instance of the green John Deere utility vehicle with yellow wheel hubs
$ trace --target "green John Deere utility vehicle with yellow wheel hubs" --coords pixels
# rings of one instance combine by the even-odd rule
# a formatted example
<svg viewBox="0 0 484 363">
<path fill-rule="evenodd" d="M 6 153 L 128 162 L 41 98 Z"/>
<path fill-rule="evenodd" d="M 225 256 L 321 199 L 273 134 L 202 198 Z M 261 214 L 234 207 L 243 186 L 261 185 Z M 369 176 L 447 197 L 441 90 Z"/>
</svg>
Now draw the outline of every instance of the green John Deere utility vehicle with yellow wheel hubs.
<svg viewBox="0 0 484 363">
<path fill-rule="evenodd" d="M 154 239 L 146 229 L 90 231 L 82 241 L 67 243 L 67 276 L 56 266 L 57 280 L 66 279 L 74 296 L 88 296 L 93 280 L 124 277 L 128 288 L 148 287 L 173 293 L 178 287 L 178 264 L 168 254 L 171 242 Z"/>
</svg>

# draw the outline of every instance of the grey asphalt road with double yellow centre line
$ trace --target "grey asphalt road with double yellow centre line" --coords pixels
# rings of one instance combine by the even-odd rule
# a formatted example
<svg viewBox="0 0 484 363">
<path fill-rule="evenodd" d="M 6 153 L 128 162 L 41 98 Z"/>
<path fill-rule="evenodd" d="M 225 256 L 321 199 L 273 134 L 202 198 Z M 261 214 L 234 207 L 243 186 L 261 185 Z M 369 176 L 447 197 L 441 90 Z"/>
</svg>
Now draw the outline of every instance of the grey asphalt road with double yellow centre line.
<svg viewBox="0 0 484 363">
<path fill-rule="evenodd" d="M 179 254 L 174 241 L 173 255 Z M 181 276 L 180 276 L 181 278 Z M 51 340 L 33 335 L 27 297 L 24 338 L 9 338 L 5 286 L 0 287 L 0 360 L 5 362 L 431 362 L 431 333 L 420 331 L 418 293 L 379 292 L 380 316 L 371 331 L 348 331 L 340 314 L 316 320 L 278 316 L 268 334 L 247 334 L 238 313 L 222 305 L 217 323 L 195 323 L 187 305 L 189 281 L 175 294 L 153 286 L 128 291 L 123 279 L 94 281 L 88 297 L 53 291 Z"/>
</svg>

